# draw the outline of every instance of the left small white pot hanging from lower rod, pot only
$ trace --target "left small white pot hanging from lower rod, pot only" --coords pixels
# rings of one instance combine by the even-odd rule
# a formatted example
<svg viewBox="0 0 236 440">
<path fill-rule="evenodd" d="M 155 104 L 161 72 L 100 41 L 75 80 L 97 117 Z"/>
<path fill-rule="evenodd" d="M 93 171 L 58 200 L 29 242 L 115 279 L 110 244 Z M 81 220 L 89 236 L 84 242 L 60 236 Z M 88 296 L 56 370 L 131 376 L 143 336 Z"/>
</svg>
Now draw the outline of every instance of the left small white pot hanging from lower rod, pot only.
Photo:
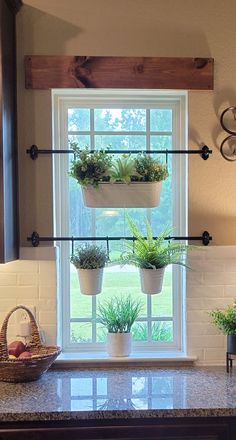
<svg viewBox="0 0 236 440">
<path fill-rule="evenodd" d="M 83 295 L 97 295 L 102 291 L 103 268 L 77 269 L 80 291 Z"/>
</svg>

